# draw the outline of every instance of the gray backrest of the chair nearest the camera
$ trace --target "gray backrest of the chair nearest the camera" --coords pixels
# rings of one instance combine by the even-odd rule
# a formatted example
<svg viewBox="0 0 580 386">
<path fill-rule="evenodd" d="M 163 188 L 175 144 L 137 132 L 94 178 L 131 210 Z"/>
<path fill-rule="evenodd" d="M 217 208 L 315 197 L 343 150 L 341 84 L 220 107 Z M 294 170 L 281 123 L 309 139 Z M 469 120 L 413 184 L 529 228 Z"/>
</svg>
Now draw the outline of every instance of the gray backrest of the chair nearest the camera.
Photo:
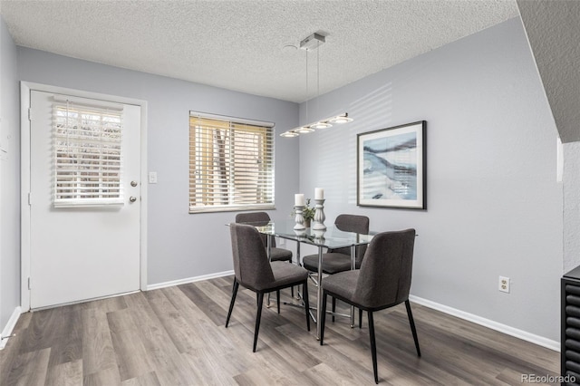
<svg viewBox="0 0 580 386">
<path fill-rule="evenodd" d="M 353 300 L 366 307 L 408 300 L 414 245 L 415 229 L 373 236 L 362 260 Z"/>
</svg>

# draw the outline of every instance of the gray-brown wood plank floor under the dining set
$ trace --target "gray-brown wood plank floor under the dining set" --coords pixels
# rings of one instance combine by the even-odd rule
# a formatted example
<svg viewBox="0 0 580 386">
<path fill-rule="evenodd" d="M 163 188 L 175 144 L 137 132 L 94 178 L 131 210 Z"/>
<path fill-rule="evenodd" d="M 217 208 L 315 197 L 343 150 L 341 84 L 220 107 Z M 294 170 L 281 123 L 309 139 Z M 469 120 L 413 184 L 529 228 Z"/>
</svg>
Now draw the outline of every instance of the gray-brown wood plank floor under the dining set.
<svg viewBox="0 0 580 386">
<path fill-rule="evenodd" d="M 253 353 L 254 293 L 240 288 L 224 327 L 232 280 L 23 314 L 16 336 L 0 351 L 0 384 L 374 384 L 366 317 L 362 329 L 328 319 L 320 346 L 315 324 L 308 333 L 301 309 L 283 306 L 276 314 L 275 307 L 265 308 Z M 518 385 L 521 374 L 559 373 L 558 352 L 411 307 L 421 358 L 404 304 L 375 314 L 380 384 Z"/>
</svg>

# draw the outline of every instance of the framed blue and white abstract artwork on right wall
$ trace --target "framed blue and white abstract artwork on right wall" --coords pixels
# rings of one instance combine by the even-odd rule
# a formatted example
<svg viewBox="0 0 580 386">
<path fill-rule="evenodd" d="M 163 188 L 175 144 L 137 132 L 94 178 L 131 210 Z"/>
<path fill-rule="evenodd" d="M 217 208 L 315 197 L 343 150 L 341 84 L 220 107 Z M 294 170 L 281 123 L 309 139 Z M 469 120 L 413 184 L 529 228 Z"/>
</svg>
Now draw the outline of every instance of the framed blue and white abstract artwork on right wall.
<svg viewBox="0 0 580 386">
<path fill-rule="evenodd" d="M 356 204 L 427 209 L 426 121 L 357 136 Z"/>
</svg>

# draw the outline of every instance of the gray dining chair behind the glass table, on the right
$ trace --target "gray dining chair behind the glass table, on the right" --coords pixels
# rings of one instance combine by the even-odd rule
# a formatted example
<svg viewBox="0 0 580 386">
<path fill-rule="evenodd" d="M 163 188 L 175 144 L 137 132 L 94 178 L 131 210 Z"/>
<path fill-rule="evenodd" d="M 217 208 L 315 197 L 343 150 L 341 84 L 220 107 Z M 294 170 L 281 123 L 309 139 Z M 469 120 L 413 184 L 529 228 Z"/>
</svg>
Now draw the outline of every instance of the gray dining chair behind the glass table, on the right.
<svg viewBox="0 0 580 386">
<path fill-rule="evenodd" d="M 339 215 L 334 220 L 334 225 L 345 232 L 355 232 L 364 235 L 369 233 L 369 217 L 366 216 L 347 214 Z M 361 267 L 362 257 L 364 256 L 366 246 L 357 246 L 356 248 L 355 267 L 358 269 Z M 307 270 L 318 273 L 318 255 L 304 256 L 302 264 Z M 329 249 L 325 254 L 323 254 L 322 268 L 324 274 L 334 275 L 339 272 L 349 271 L 351 265 L 352 258 L 350 247 Z M 334 311 L 336 311 L 335 298 L 333 298 L 333 313 Z"/>
</svg>

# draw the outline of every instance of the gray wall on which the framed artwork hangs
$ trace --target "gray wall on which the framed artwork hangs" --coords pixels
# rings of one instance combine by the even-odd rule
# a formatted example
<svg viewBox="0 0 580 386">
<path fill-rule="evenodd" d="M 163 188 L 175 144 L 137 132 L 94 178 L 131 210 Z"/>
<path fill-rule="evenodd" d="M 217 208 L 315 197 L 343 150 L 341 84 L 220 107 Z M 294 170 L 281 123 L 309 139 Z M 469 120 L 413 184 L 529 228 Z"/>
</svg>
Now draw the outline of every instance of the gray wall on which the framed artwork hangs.
<svg viewBox="0 0 580 386">
<path fill-rule="evenodd" d="M 557 131 L 519 18 L 318 102 L 313 119 L 341 110 L 355 119 L 299 138 L 300 188 L 307 197 L 325 188 L 330 221 L 359 213 L 375 230 L 415 227 L 411 294 L 559 340 Z M 356 134 L 420 120 L 428 210 L 356 207 Z M 498 292 L 499 275 L 511 278 L 510 294 Z"/>
</svg>

